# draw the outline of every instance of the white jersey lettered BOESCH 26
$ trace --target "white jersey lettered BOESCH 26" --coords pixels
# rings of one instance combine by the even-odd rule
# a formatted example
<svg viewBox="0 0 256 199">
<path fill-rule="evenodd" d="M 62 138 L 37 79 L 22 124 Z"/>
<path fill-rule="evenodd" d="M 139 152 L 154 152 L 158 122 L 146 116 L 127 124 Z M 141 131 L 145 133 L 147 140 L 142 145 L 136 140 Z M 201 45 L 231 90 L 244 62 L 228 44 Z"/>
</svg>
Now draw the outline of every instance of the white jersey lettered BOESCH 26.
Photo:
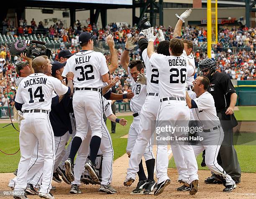
<svg viewBox="0 0 256 199">
<path fill-rule="evenodd" d="M 189 66 L 188 60 L 182 56 L 165 56 L 153 53 L 149 60 L 159 72 L 160 97 L 185 97 L 185 82 L 187 76 L 194 73 L 194 68 Z"/>
</svg>

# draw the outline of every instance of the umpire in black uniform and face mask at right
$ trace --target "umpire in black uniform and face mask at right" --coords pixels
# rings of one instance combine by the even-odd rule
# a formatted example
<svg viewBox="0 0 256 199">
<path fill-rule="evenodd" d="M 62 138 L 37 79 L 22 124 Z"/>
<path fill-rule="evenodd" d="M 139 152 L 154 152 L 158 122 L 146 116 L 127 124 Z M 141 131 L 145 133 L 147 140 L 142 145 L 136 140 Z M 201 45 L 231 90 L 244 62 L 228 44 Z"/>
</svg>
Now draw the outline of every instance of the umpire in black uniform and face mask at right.
<svg viewBox="0 0 256 199">
<path fill-rule="evenodd" d="M 236 90 L 230 77 L 226 73 L 216 71 L 216 62 L 209 58 L 200 62 L 199 72 L 210 80 L 207 91 L 213 96 L 217 116 L 224 131 L 224 140 L 217 158 L 218 163 L 236 183 L 240 183 L 241 167 L 233 145 L 233 127 L 237 125 L 234 116 L 234 107 L 237 100 Z M 222 181 L 222 177 L 212 175 L 205 180 L 205 183 L 222 184 Z"/>
</svg>

